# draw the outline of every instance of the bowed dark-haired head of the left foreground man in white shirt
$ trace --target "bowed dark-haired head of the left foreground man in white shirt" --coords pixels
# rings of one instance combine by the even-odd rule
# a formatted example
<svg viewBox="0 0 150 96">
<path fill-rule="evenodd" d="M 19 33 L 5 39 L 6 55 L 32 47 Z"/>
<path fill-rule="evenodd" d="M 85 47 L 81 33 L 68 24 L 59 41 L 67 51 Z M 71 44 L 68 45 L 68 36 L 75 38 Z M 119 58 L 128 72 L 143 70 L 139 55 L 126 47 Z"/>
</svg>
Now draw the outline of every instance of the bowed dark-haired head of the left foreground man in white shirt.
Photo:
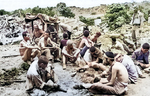
<svg viewBox="0 0 150 96">
<path fill-rule="evenodd" d="M 48 64 L 48 59 L 46 58 L 46 56 L 40 56 L 38 60 L 39 67 L 45 69 L 47 67 L 47 64 Z"/>
</svg>

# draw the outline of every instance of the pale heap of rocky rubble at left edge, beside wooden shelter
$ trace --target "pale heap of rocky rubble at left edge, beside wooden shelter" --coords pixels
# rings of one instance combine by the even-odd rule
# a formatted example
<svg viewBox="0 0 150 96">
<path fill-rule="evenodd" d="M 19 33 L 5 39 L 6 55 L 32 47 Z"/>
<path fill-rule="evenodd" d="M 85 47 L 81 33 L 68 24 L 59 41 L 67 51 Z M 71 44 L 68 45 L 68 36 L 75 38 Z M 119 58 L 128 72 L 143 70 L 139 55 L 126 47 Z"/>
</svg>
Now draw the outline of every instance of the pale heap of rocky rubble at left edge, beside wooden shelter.
<svg viewBox="0 0 150 96">
<path fill-rule="evenodd" d="M 0 43 L 5 45 L 22 39 L 24 19 L 15 15 L 0 16 Z"/>
</svg>

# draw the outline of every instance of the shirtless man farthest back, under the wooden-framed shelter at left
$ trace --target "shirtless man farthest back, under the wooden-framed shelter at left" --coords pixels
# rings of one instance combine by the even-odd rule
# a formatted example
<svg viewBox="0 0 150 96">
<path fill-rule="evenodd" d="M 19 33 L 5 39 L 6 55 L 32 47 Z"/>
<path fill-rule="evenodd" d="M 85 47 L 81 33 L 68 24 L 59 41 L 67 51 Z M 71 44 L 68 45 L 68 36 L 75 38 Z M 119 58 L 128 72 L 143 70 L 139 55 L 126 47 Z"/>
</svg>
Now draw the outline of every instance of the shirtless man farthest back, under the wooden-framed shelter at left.
<svg viewBox="0 0 150 96">
<path fill-rule="evenodd" d="M 44 36 L 44 31 L 39 29 L 38 25 L 34 25 L 33 41 L 38 44 L 39 40 Z"/>
</svg>

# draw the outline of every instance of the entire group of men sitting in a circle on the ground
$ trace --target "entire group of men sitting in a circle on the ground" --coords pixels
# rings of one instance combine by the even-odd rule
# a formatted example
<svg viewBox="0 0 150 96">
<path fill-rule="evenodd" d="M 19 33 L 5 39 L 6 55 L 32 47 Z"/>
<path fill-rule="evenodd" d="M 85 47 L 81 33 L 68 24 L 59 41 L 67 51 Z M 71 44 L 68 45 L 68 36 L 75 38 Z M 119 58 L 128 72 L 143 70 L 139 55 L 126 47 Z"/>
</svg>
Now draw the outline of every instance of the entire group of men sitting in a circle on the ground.
<svg viewBox="0 0 150 96">
<path fill-rule="evenodd" d="M 38 28 L 37 26 L 34 27 L 35 29 Z M 75 41 L 68 39 L 67 33 L 64 33 L 64 39 L 61 40 L 59 47 L 58 44 L 51 40 L 50 32 L 39 30 L 34 30 L 34 34 L 40 34 L 36 37 L 36 39 L 39 39 L 36 46 L 29 45 L 28 41 L 30 39 L 27 36 L 27 32 L 23 32 L 23 41 L 20 42 L 20 54 L 24 61 L 29 61 L 35 56 L 39 58 L 30 65 L 28 70 L 28 90 L 34 87 L 41 89 L 45 89 L 47 86 L 51 88 L 58 87 L 57 76 L 53 76 L 52 79 L 52 66 L 50 63 L 59 61 L 59 57 L 62 57 L 64 70 L 68 61 L 78 66 L 80 66 L 81 62 L 84 62 L 85 66 L 82 68 L 99 68 L 103 71 L 101 76 L 108 75 L 108 82 L 80 85 L 89 89 L 92 93 L 121 95 L 127 91 L 129 82 L 135 83 L 138 77 L 144 78 L 141 69 L 149 71 L 148 43 L 144 43 L 142 48 L 135 50 L 132 57 L 129 57 L 123 54 L 102 52 L 99 48 L 96 48 L 94 44 L 101 35 L 100 32 L 90 37 L 89 30 L 84 30 L 84 36 L 81 37 L 79 46 Z M 109 64 L 110 68 L 108 69 L 105 64 Z"/>
</svg>

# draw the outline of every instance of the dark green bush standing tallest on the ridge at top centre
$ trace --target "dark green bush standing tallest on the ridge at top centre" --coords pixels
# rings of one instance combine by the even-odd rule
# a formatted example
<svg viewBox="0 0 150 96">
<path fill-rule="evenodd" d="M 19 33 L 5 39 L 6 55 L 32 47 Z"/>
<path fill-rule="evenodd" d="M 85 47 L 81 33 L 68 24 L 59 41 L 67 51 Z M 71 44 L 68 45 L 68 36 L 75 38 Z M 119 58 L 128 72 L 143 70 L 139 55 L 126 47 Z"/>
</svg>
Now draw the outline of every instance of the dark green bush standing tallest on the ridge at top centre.
<svg viewBox="0 0 150 96">
<path fill-rule="evenodd" d="M 64 17 L 71 18 L 75 16 L 75 14 L 71 12 L 71 9 L 66 7 L 66 4 L 63 2 L 57 4 L 57 11 Z"/>
</svg>

